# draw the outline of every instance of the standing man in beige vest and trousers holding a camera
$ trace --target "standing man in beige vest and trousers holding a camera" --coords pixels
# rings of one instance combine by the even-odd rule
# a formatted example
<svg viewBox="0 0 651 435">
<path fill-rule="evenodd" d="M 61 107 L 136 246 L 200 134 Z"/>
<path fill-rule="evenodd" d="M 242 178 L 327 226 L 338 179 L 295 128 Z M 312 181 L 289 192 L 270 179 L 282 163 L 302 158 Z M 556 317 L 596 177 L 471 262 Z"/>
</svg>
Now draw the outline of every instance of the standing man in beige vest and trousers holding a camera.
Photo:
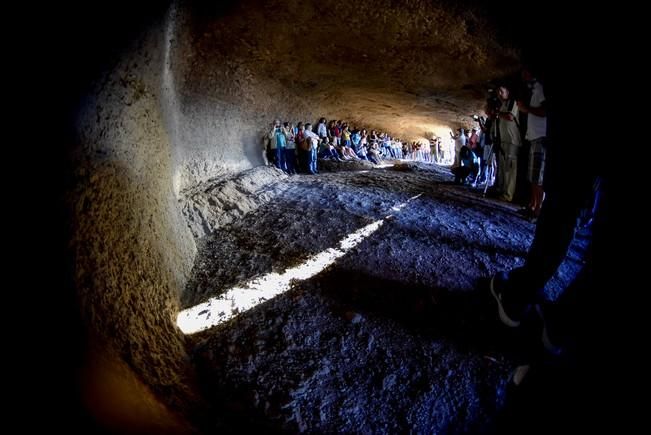
<svg viewBox="0 0 651 435">
<path fill-rule="evenodd" d="M 511 202 L 515 194 L 515 183 L 518 175 L 518 152 L 522 145 L 518 125 L 519 111 L 506 86 L 502 85 L 498 88 L 497 96 L 502 103 L 497 113 L 497 128 L 500 134 L 497 184 L 501 192 L 500 199 Z"/>
</svg>

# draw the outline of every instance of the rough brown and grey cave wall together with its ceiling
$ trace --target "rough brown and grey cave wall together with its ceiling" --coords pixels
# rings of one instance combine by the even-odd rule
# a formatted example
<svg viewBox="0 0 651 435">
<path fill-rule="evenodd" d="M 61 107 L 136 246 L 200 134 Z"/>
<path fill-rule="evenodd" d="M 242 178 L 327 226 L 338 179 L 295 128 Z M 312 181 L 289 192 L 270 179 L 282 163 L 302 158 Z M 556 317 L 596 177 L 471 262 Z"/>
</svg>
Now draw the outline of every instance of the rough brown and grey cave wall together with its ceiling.
<svg viewBox="0 0 651 435">
<path fill-rule="evenodd" d="M 142 8 L 153 18 L 131 29 L 114 62 L 88 71 L 76 106 L 75 287 L 99 353 L 119 361 L 91 364 L 87 383 L 128 378 L 110 394 L 146 404 L 153 393 L 158 416 L 187 417 L 195 400 L 174 320 L 200 234 L 182 204 L 198 184 L 261 165 L 274 118 L 343 119 L 404 140 L 447 135 L 483 108 L 487 80 L 517 67 L 491 22 L 454 2 L 208 3 Z M 123 31 L 100 29 L 109 46 Z"/>
</svg>

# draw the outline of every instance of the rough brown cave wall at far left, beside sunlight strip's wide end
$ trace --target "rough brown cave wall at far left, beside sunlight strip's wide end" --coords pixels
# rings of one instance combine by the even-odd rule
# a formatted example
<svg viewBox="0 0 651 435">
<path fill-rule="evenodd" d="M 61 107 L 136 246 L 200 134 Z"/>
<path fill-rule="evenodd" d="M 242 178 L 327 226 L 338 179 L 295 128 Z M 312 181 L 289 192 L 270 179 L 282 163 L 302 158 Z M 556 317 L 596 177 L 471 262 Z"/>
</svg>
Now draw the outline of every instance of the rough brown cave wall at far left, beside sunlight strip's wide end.
<svg viewBox="0 0 651 435">
<path fill-rule="evenodd" d="M 196 246 L 171 182 L 165 117 L 177 109 L 162 80 L 164 30 L 144 33 L 81 107 L 72 246 L 82 315 L 103 344 L 96 349 L 127 363 L 146 385 L 136 391 L 151 388 L 184 410 L 193 394 L 175 313 Z"/>
</svg>

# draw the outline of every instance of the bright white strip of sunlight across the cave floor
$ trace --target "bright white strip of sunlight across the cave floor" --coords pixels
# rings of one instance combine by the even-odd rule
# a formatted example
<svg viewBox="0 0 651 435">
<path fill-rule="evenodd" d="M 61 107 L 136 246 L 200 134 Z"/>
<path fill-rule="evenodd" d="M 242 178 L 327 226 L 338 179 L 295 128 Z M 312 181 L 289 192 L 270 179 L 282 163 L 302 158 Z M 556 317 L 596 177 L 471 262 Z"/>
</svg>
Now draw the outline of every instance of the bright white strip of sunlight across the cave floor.
<svg viewBox="0 0 651 435">
<path fill-rule="evenodd" d="M 400 211 L 407 203 L 421 195 L 422 193 L 409 198 L 406 202 L 392 207 L 392 210 Z M 308 258 L 303 264 L 285 270 L 282 274 L 272 272 L 255 278 L 242 287 L 231 288 L 217 297 L 210 298 L 207 302 L 183 310 L 177 316 L 176 324 L 183 333 L 193 334 L 226 322 L 239 313 L 285 293 L 291 288 L 292 281 L 306 280 L 318 274 L 377 231 L 391 217 L 393 215 L 388 215 L 360 228 L 342 239 L 338 248 L 326 249 Z"/>
</svg>

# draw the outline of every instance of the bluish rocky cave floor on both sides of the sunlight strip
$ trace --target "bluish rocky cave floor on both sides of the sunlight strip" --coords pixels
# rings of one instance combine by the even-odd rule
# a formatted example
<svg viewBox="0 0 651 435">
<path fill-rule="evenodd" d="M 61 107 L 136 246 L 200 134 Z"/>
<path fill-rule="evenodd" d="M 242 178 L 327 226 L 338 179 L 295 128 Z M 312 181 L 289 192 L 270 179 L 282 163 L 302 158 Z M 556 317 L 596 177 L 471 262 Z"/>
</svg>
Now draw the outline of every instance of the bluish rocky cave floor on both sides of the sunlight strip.
<svg viewBox="0 0 651 435">
<path fill-rule="evenodd" d="M 297 266 L 393 217 L 323 272 L 189 336 L 203 393 L 222 411 L 206 424 L 226 431 L 490 431 L 508 376 L 528 350 L 526 337 L 496 324 L 485 278 L 523 262 L 534 225 L 517 206 L 454 185 L 449 169 L 436 165 L 345 162 L 320 172 L 278 174 L 257 193 L 266 198 L 257 208 L 202 238 L 184 306 Z M 550 298 L 580 256 L 574 246 L 548 287 Z"/>
</svg>

